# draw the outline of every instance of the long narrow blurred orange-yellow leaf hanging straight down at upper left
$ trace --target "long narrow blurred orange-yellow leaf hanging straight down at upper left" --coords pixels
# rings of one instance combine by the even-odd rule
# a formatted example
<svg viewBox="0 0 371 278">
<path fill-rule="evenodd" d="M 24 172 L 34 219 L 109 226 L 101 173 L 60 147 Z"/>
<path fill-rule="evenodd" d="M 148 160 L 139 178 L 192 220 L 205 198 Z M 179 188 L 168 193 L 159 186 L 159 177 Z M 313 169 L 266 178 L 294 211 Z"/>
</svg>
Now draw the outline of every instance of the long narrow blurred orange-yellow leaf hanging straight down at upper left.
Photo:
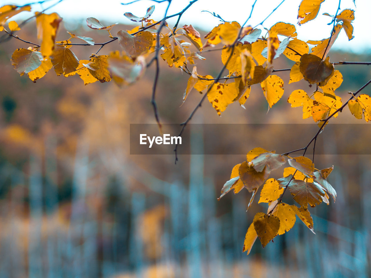
<svg viewBox="0 0 371 278">
<path fill-rule="evenodd" d="M 37 38 L 42 40 L 40 52 L 43 57 L 49 57 L 54 50 L 55 36 L 62 17 L 58 13 L 39 13 L 36 12 Z"/>
</svg>

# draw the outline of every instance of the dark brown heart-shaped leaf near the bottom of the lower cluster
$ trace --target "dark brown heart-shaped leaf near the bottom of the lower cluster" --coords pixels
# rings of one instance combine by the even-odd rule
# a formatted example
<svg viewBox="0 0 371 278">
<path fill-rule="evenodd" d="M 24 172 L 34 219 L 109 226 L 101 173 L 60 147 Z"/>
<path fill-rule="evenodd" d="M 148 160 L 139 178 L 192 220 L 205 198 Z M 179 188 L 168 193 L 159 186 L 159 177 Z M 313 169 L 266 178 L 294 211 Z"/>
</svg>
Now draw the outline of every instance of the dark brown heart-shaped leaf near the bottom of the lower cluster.
<svg viewBox="0 0 371 278">
<path fill-rule="evenodd" d="M 278 233 L 280 220 L 274 215 L 267 215 L 263 212 L 258 212 L 253 220 L 254 228 L 257 236 L 262 243 L 263 248 L 271 241 Z"/>
</svg>

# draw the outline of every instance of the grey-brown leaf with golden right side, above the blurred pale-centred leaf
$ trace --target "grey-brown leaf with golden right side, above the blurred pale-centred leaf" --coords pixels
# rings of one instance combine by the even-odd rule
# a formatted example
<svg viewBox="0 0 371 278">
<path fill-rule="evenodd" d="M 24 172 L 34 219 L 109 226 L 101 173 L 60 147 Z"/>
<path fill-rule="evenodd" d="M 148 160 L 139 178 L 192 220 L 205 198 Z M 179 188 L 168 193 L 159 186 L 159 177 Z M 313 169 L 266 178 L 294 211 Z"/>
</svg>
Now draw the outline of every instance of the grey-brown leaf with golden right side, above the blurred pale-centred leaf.
<svg viewBox="0 0 371 278">
<path fill-rule="evenodd" d="M 120 46 L 130 57 L 137 57 L 147 53 L 153 43 L 153 35 L 148 31 L 143 31 L 133 36 L 124 30 L 120 30 L 117 32 L 117 37 Z"/>
</svg>

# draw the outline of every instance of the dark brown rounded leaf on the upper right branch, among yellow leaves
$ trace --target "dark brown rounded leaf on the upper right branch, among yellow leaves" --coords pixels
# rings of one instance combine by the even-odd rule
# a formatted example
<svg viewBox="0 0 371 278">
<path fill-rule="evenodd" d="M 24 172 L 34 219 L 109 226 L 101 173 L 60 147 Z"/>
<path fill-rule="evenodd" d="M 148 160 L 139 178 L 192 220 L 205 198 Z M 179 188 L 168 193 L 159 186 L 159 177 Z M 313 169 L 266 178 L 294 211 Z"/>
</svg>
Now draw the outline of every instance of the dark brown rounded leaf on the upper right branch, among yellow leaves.
<svg viewBox="0 0 371 278">
<path fill-rule="evenodd" d="M 300 58 L 300 72 L 304 79 L 311 84 L 323 82 L 334 72 L 334 65 L 329 62 L 329 57 L 322 60 L 312 54 L 304 54 Z"/>
</svg>

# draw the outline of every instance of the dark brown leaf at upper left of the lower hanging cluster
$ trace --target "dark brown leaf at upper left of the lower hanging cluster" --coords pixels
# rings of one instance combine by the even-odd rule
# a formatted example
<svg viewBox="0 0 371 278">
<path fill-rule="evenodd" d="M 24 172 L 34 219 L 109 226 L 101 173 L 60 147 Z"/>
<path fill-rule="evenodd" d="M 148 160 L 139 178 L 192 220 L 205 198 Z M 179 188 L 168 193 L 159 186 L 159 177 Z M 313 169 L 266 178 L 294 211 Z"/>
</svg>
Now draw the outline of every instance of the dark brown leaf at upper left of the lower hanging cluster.
<svg viewBox="0 0 371 278">
<path fill-rule="evenodd" d="M 262 172 L 257 172 L 253 166 L 249 165 L 248 162 L 242 162 L 239 167 L 239 176 L 243 185 L 249 192 L 259 188 L 260 185 L 267 179 L 269 171 L 263 169 Z"/>
</svg>

